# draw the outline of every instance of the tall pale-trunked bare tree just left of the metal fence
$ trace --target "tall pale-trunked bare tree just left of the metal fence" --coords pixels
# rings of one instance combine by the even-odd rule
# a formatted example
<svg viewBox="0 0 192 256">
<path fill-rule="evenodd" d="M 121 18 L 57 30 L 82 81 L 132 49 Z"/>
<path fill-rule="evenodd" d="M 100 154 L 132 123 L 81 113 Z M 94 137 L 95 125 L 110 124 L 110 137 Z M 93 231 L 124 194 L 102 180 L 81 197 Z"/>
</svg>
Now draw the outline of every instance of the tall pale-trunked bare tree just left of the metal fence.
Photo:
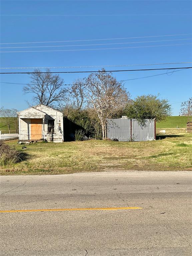
<svg viewBox="0 0 192 256">
<path fill-rule="evenodd" d="M 129 100 L 122 83 L 117 82 L 111 73 L 102 69 L 98 73 L 92 73 L 86 80 L 88 93 L 87 101 L 95 110 L 101 122 L 102 137 L 107 137 L 107 119 L 122 110 Z"/>
</svg>

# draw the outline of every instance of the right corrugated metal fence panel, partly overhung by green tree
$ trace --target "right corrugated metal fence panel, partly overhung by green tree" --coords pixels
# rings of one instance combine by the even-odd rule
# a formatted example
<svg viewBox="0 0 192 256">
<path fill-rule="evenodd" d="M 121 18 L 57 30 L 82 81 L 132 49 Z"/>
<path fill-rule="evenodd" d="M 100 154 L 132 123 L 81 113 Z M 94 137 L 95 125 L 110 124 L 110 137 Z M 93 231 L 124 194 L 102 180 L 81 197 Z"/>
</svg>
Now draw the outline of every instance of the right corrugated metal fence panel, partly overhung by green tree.
<svg viewBox="0 0 192 256">
<path fill-rule="evenodd" d="M 145 124 L 140 124 L 132 119 L 132 141 L 148 141 L 155 139 L 155 120 L 145 119 Z"/>
</svg>

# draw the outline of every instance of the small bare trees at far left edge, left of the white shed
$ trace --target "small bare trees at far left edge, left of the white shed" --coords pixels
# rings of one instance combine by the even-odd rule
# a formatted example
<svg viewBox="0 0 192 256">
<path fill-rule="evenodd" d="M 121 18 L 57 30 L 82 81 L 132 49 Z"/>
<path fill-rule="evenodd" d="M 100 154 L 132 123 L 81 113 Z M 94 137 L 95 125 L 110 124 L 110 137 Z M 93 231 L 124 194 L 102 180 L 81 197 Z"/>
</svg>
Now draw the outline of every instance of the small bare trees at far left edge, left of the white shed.
<svg viewBox="0 0 192 256">
<path fill-rule="evenodd" d="M 17 110 L 16 109 L 5 109 L 4 107 L 0 108 L 0 121 L 7 126 L 9 133 L 11 133 L 11 124 L 14 123 L 15 130 L 17 133 L 18 123 L 17 123 Z M 15 117 L 13 119 L 13 117 Z"/>
</svg>

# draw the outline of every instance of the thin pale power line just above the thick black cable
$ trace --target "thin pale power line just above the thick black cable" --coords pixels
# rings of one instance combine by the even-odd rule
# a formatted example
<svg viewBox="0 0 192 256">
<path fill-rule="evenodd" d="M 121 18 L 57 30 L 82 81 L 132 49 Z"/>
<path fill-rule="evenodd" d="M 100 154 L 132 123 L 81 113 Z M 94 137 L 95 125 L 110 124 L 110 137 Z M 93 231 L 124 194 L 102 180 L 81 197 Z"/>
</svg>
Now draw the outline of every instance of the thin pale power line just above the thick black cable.
<svg viewBox="0 0 192 256">
<path fill-rule="evenodd" d="M 128 66 L 151 66 L 151 65 L 167 65 L 167 64 L 186 64 L 192 62 L 168 62 L 168 63 L 153 63 L 153 64 L 128 64 L 128 65 L 100 65 L 100 66 L 74 66 L 74 67 L 16 67 L 16 68 L 1 68 L 0 69 L 37 69 L 37 68 L 97 68 L 97 67 L 128 67 Z"/>
</svg>

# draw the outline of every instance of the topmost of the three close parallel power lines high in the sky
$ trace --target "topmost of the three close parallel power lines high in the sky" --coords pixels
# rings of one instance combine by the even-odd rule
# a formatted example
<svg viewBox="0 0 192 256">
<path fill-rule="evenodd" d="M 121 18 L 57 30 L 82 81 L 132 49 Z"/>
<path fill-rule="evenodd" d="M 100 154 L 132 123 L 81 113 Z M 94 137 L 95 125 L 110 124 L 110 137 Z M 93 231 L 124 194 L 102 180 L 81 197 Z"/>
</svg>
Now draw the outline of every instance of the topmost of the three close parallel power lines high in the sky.
<svg viewBox="0 0 192 256">
<path fill-rule="evenodd" d="M 20 42 L 20 43 L 0 43 L 0 44 L 39 44 L 39 43 L 64 43 L 64 42 L 83 42 L 83 41 L 101 41 L 101 40 L 120 40 L 120 39 L 136 39 L 136 38 L 148 38 L 148 37 L 164 37 L 164 36 L 185 36 L 188 34 L 174 34 L 174 35 L 161 35 L 161 36 L 139 36 L 139 37 L 121 37 L 121 38 L 102 38 L 102 39 L 84 39 L 84 40 L 67 40 L 67 41 L 44 41 L 44 42 Z"/>
</svg>

